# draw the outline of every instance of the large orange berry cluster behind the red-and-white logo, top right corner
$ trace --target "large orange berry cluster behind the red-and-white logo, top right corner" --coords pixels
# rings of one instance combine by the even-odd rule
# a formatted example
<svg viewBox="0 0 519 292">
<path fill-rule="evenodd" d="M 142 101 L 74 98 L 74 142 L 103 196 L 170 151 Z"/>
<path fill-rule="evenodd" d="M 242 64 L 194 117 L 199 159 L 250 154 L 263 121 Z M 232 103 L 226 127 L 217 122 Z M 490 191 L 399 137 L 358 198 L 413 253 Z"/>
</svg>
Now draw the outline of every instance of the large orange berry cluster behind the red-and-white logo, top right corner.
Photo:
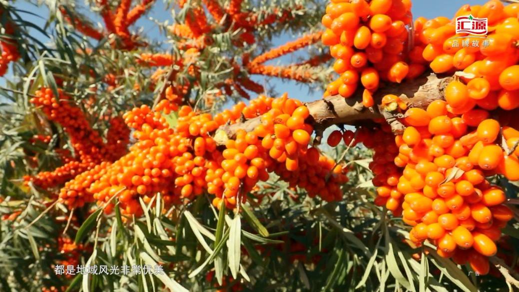
<svg viewBox="0 0 519 292">
<path fill-rule="evenodd" d="M 482 109 L 519 107 L 519 4 L 504 6 L 498 0 L 484 5 L 464 5 L 455 17 L 487 18 L 494 29 L 485 38 L 456 34 L 454 21 L 438 17 L 417 20 L 417 38 L 426 45 L 422 57 L 435 73 L 463 70 L 461 81 L 449 84 L 445 98 L 452 113 L 478 105 Z M 418 47 L 417 47 L 418 49 Z M 418 52 L 417 52 L 418 54 Z"/>
</svg>

